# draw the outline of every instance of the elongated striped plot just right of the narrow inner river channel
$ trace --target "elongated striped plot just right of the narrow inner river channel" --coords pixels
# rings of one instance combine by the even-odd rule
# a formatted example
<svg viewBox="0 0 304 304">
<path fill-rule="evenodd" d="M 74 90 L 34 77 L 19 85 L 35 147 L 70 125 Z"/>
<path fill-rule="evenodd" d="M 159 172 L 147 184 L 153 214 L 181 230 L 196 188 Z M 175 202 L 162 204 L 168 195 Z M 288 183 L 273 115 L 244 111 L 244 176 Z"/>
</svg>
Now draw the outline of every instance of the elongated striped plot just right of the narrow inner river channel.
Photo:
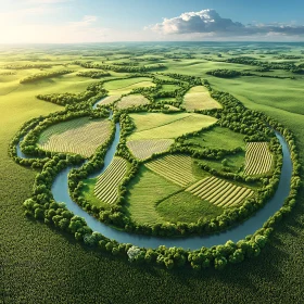
<svg viewBox="0 0 304 304">
<path fill-rule="evenodd" d="M 113 204 L 118 199 L 118 186 L 127 173 L 127 168 L 126 160 L 114 157 L 106 170 L 99 176 L 94 195 L 107 204 Z"/>
</svg>

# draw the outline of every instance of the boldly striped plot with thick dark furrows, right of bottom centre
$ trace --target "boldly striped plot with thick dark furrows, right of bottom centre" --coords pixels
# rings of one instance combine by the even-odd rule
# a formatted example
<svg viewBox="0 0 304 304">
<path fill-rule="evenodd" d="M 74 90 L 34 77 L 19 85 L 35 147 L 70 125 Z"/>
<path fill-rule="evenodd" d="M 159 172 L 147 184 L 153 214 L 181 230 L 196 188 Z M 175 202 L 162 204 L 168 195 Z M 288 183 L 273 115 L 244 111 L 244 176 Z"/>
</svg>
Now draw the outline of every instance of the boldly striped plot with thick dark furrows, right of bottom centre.
<svg viewBox="0 0 304 304">
<path fill-rule="evenodd" d="M 254 193 L 249 188 L 236 186 L 216 177 L 201 179 L 186 191 L 221 207 L 237 206 Z"/>
</svg>

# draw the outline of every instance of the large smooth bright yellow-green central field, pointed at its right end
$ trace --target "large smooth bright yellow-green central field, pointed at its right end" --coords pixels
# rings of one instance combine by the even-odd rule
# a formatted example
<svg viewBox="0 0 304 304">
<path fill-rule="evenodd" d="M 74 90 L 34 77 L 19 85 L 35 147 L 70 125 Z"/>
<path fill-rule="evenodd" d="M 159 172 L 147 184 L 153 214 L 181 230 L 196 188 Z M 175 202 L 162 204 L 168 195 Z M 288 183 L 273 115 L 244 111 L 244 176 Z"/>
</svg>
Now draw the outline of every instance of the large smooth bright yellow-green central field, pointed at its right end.
<svg viewBox="0 0 304 304">
<path fill-rule="evenodd" d="M 208 127 L 217 122 L 216 118 L 201 114 L 177 113 L 143 113 L 131 114 L 136 125 L 129 140 L 176 138 L 187 132 L 193 132 Z"/>
</svg>

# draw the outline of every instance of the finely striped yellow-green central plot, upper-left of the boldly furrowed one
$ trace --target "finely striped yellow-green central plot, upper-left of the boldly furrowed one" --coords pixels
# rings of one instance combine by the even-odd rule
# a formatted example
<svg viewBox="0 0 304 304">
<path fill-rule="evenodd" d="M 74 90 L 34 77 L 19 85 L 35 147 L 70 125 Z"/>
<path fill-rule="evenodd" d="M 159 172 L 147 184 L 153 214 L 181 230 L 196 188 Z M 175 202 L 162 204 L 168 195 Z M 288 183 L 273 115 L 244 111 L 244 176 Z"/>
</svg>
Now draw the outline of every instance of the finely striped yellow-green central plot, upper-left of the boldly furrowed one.
<svg viewBox="0 0 304 304">
<path fill-rule="evenodd" d="M 166 155 L 162 159 L 149 162 L 145 166 L 152 172 L 175 182 L 178 186 L 186 187 L 195 181 L 192 173 L 192 160 L 185 155 Z"/>
</svg>

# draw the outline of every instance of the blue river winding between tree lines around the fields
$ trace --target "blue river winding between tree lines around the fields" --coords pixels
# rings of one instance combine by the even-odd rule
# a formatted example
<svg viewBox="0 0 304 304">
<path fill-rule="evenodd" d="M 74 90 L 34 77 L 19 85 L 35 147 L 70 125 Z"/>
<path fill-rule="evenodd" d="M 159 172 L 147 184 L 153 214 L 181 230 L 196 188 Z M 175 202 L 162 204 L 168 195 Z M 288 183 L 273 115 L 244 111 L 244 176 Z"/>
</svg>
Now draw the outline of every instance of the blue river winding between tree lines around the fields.
<svg viewBox="0 0 304 304">
<path fill-rule="evenodd" d="M 91 178 L 102 174 L 111 164 L 117 144 L 119 142 L 119 134 L 121 134 L 119 124 L 116 124 L 115 138 L 110 149 L 106 152 L 105 160 L 104 160 L 104 167 L 102 168 L 102 170 L 90 176 Z M 278 190 L 276 191 L 275 195 L 269 200 L 269 202 L 263 208 L 258 210 L 255 213 L 255 215 L 253 215 L 250 219 L 245 220 L 244 223 L 227 231 L 219 232 L 216 235 L 202 236 L 202 237 L 187 237 L 187 238 L 157 238 L 152 236 L 142 236 L 142 235 L 135 235 L 126 231 L 121 231 L 121 230 L 116 230 L 113 227 L 106 226 L 105 224 L 96 219 L 93 216 L 86 213 L 81 207 L 79 207 L 75 202 L 72 201 L 68 194 L 67 176 L 73 167 L 65 168 L 55 177 L 52 185 L 52 193 L 55 201 L 64 202 L 66 204 L 66 207 L 69 211 L 72 211 L 75 215 L 84 217 L 88 226 L 93 231 L 98 231 L 103 236 L 107 237 L 109 239 L 115 239 L 116 241 L 122 243 L 131 243 L 138 246 L 153 248 L 153 249 L 160 245 L 166 245 L 168 248 L 178 246 L 183 249 L 197 250 L 202 246 L 210 248 L 217 244 L 225 244 L 228 240 L 232 240 L 233 242 L 237 242 L 241 239 L 244 239 L 248 235 L 252 235 L 257 229 L 262 228 L 263 224 L 282 206 L 286 198 L 289 195 L 291 176 L 292 176 L 292 162 L 290 157 L 289 148 L 284 138 L 277 131 L 276 131 L 276 136 L 282 145 L 283 165 L 282 165 Z M 17 144 L 16 148 L 17 148 L 17 155 L 20 157 L 27 157 L 25 154 L 21 152 L 20 144 Z"/>
</svg>

